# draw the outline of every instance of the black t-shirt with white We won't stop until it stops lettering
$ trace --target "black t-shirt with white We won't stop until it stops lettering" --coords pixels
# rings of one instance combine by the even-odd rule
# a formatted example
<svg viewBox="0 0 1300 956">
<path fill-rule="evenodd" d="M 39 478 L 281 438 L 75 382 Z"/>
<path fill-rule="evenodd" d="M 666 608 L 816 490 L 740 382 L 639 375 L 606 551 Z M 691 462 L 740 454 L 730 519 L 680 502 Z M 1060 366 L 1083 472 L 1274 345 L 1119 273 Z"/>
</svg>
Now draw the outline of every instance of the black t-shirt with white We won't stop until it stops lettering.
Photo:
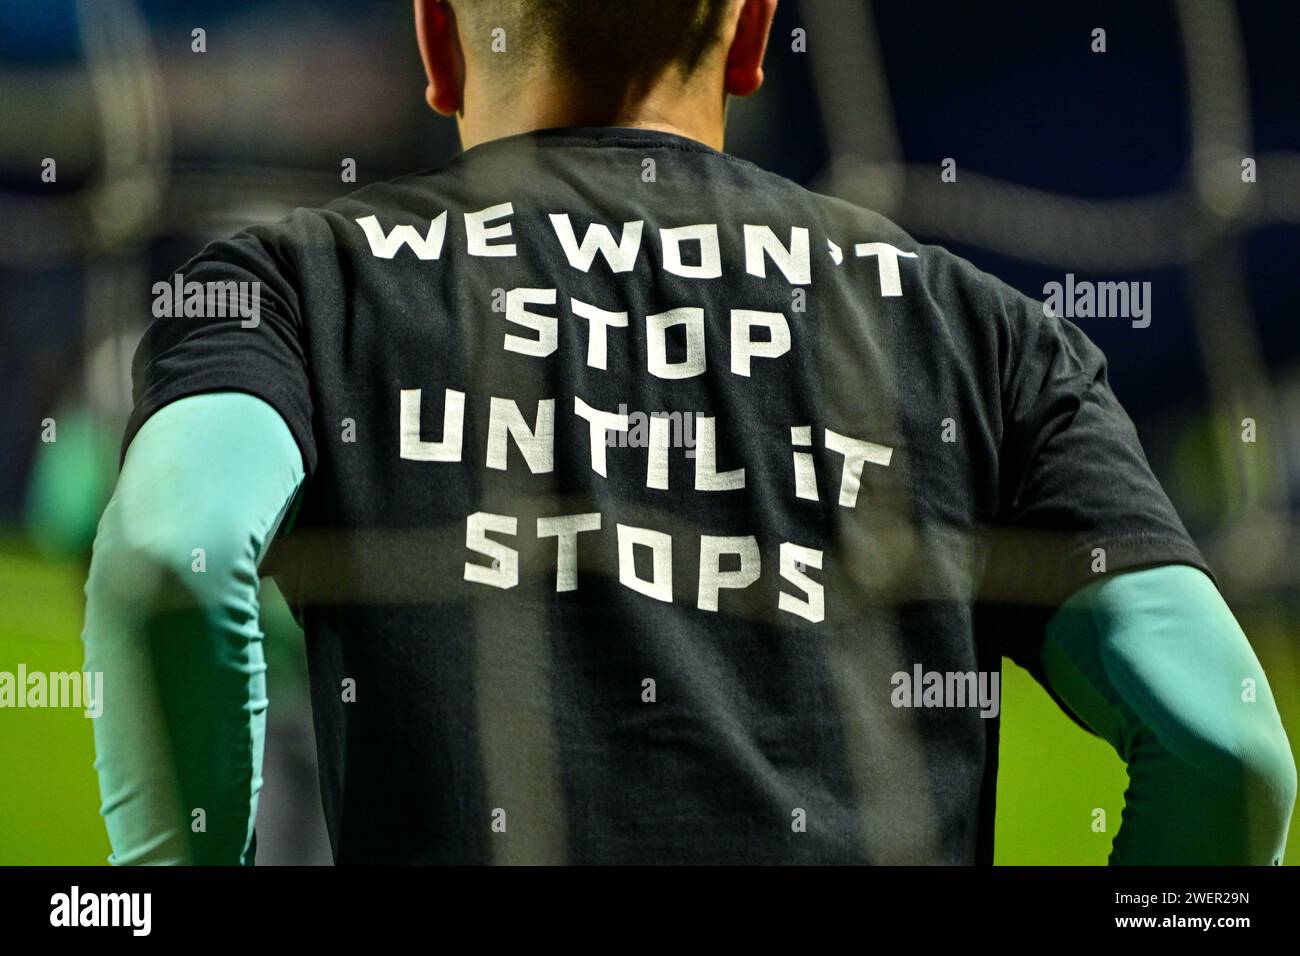
<svg viewBox="0 0 1300 956">
<path fill-rule="evenodd" d="M 339 862 L 989 861 L 1001 657 L 1204 568 L 1078 328 L 688 139 L 481 144 L 181 272 L 259 317 L 155 321 L 126 441 L 292 431 Z"/>
</svg>

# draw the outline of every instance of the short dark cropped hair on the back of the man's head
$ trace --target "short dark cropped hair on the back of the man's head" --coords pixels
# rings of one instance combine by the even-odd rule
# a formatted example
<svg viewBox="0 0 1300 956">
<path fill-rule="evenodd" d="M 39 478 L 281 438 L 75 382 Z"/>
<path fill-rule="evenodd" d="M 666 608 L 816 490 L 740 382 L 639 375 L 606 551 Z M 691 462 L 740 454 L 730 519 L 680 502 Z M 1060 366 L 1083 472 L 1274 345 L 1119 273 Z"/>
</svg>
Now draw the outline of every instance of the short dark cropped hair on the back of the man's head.
<svg viewBox="0 0 1300 956">
<path fill-rule="evenodd" d="M 668 66 L 689 77 L 722 38 L 732 0 L 452 0 L 462 29 L 485 43 L 506 31 L 507 62 L 541 56 L 576 79 L 649 81 Z M 516 55 L 516 56 L 512 56 Z"/>
</svg>

